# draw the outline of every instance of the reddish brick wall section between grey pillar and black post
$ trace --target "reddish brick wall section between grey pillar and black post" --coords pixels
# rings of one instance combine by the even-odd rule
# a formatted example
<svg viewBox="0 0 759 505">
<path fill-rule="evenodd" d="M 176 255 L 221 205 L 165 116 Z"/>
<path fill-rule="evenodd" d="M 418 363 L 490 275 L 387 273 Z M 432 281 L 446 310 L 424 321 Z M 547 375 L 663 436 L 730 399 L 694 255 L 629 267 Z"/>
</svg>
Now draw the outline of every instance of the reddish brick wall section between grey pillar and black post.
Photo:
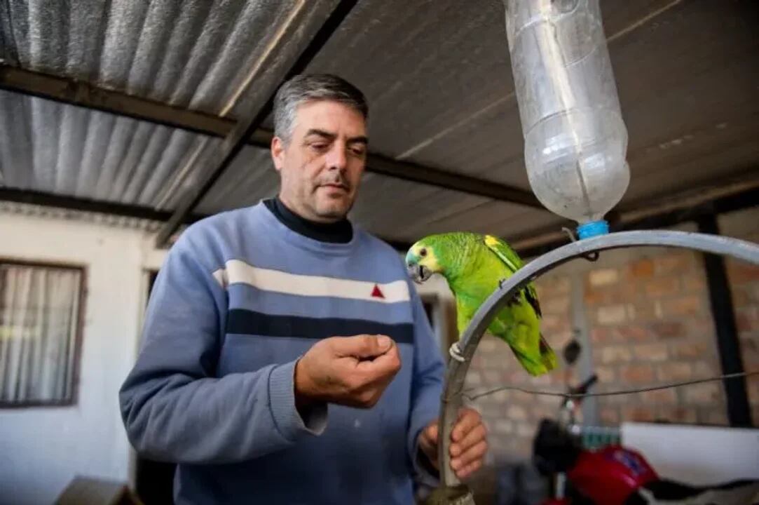
<svg viewBox="0 0 759 505">
<path fill-rule="evenodd" d="M 584 277 L 601 387 L 628 389 L 719 374 L 698 254 L 647 251 L 638 260 L 591 270 Z M 606 425 L 622 420 L 726 423 L 720 383 L 603 397 L 598 408 Z"/>
</svg>

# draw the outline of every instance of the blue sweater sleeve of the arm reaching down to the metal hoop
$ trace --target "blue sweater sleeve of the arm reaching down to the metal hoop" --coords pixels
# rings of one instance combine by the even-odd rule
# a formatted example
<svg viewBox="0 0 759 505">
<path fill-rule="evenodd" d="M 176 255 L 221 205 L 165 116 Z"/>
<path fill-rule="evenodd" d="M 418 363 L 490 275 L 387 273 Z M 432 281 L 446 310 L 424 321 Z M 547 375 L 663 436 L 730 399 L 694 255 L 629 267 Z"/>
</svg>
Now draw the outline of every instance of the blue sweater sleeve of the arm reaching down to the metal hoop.
<svg viewBox="0 0 759 505">
<path fill-rule="evenodd" d="M 439 417 L 446 365 L 419 295 L 414 286 L 410 289 L 414 308 L 414 380 L 411 386 L 408 453 L 417 478 L 434 487 L 439 475 L 419 449 L 419 435 L 430 421 Z"/>
</svg>

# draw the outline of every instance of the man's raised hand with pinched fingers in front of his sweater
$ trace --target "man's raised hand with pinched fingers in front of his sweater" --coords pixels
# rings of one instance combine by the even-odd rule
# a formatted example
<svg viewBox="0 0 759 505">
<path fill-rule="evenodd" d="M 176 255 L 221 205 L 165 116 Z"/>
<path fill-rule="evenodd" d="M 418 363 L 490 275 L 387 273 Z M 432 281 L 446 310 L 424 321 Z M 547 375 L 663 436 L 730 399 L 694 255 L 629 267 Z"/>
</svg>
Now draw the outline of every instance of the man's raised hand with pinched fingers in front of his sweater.
<svg viewBox="0 0 759 505">
<path fill-rule="evenodd" d="M 314 344 L 295 365 L 295 403 L 368 409 L 401 368 L 398 346 L 384 335 L 333 336 Z"/>
</svg>

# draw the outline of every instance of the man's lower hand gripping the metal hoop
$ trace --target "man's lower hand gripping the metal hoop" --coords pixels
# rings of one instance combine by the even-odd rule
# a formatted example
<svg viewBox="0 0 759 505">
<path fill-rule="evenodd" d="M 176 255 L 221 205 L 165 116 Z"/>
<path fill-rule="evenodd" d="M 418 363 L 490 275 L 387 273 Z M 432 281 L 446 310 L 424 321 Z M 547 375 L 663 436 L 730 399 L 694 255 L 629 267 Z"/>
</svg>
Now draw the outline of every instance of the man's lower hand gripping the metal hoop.
<svg viewBox="0 0 759 505">
<path fill-rule="evenodd" d="M 487 452 L 487 431 L 480 413 L 464 408 L 458 412 L 458 419 L 451 431 L 451 469 L 461 480 L 477 472 L 483 464 Z M 419 435 L 420 450 L 438 469 L 437 463 L 438 425 L 432 421 Z"/>
</svg>

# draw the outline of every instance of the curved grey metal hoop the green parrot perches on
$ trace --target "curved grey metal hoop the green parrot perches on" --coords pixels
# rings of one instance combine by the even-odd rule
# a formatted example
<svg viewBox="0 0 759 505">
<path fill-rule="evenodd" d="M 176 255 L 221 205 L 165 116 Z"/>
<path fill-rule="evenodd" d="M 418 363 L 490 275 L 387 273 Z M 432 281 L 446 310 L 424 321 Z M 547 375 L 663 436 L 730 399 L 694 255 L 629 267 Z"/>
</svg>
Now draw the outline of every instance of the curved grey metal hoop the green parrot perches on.
<svg viewBox="0 0 759 505">
<path fill-rule="evenodd" d="M 442 441 L 439 444 L 438 451 L 441 477 L 439 491 L 441 491 L 440 497 L 444 500 L 440 503 L 461 503 L 462 505 L 474 503 L 471 493 L 456 478 L 450 467 L 450 437 L 456 415 L 461 408 L 464 380 L 471 358 L 496 313 L 528 282 L 534 281 L 538 276 L 553 270 L 568 260 L 587 257 L 587 254 L 609 249 L 646 246 L 688 248 L 704 253 L 730 256 L 759 265 L 759 245 L 754 243 L 720 235 L 658 230 L 617 232 L 585 238 L 543 254 L 543 256 L 526 264 L 506 282 L 503 282 L 502 286 L 493 292 L 493 295 L 490 295 L 490 298 L 485 301 L 472 318 L 459 341 L 459 348 L 464 361 L 449 361 L 439 418 L 439 424 L 442 426 Z"/>
</svg>

